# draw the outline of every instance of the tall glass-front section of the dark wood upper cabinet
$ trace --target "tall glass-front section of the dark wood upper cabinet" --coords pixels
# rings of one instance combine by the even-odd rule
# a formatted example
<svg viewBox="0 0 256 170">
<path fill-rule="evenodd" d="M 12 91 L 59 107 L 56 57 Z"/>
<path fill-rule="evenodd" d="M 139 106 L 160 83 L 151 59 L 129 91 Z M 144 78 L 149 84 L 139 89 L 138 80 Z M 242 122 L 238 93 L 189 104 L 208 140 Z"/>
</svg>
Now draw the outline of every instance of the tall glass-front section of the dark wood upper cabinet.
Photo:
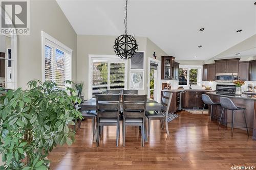
<svg viewBox="0 0 256 170">
<path fill-rule="evenodd" d="M 174 59 L 173 56 L 162 56 L 162 80 L 174 79 Z"/>
</svg>

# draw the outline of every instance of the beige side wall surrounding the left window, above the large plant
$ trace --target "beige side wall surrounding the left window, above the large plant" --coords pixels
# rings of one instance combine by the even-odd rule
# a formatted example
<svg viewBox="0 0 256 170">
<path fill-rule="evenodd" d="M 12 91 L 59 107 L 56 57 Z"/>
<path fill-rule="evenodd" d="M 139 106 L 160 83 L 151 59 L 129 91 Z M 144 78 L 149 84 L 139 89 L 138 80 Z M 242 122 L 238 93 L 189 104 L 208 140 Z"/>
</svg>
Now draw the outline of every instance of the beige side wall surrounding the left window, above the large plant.
<svg viewBox="0 0 256 170">
<path fill-rule="evenodd" d="M 30 35 L 18 36 L 18 87 L 41 80 L 41 30 L 73 50 L 72 79 L 76 80 L 77 35 L 55 0 L 30 1 Z"/>
</svg>

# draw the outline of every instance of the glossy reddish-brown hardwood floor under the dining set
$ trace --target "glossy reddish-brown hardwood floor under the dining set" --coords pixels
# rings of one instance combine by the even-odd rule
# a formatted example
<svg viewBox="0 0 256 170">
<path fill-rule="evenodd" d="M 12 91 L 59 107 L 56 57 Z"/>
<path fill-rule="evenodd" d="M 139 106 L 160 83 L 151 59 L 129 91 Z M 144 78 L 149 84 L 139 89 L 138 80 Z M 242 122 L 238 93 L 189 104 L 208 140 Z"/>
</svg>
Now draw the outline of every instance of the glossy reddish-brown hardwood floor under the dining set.
<svg viewBox="0 0 256 170">
<path fill-rule="evenodd" d="M 52 169 L 256 169 L 256 140 L 243 130 L 234 130 L 212 121 L 208 115 L 182 111 L 169 123 L 170 136 L 158 120 L 151 124 L 151 137 L 141 147 L 139 128 L 128 127 L 126 146 L 116 147 L 116 128 L 105 127 L 100 147 L 92 142 L 91 122 L 85 120 L 77 131 L 76 142 L 55 148 L 49 155 Z M 122 126 L 121 126 L 122 127 Z M 121 135 L 122 136 L 122 133 Z"/>
</svg>

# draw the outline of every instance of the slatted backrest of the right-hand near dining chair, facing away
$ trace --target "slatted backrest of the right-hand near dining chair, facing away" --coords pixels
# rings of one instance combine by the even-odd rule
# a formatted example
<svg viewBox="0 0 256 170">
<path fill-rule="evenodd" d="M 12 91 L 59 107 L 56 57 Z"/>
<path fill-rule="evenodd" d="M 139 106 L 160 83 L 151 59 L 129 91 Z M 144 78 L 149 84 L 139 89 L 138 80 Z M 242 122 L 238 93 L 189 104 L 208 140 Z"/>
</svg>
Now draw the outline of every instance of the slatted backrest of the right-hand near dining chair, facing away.
<svg viewBox="0 0 256 170">
<path fill-rule="evenodd" d="M 147 95 L 123 95 L 123 117 L 144 118 Z"/>
</svg>

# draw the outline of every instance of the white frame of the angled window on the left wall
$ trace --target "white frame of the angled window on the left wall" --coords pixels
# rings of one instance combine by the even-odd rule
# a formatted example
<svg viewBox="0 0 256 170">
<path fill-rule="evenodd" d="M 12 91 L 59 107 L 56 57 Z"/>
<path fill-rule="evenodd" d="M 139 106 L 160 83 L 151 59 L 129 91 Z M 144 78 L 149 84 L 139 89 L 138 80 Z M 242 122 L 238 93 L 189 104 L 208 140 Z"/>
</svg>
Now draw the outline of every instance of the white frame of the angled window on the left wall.
<svg viewBox="0 0 256 170">
<path fill-rule="evenodd" d="M 52 43 L 56 44 L 58 50 L 68 53 L 70 55 L 70 80 L 72 80 L 72 52 L 73 50 L 66 46 L 65 44 L 61 43 L 60 41 L 56 40 L 49 34 L 45 33 L 44 31 L 41 31 L 41 69 L 42 69 L 42 77 L 41 80 L 42 82 L 45 82 L 45 45 L 53 47 L 53 45 L 47 43 L 48 41 L 51 41 Z M 54 47 L 55 49 L 55 47 Z M 53 50 L 53 56 L 55 56 L 55 50 Z M 54 75 L 53 75 L 54 76 Z"/>
</svg>

